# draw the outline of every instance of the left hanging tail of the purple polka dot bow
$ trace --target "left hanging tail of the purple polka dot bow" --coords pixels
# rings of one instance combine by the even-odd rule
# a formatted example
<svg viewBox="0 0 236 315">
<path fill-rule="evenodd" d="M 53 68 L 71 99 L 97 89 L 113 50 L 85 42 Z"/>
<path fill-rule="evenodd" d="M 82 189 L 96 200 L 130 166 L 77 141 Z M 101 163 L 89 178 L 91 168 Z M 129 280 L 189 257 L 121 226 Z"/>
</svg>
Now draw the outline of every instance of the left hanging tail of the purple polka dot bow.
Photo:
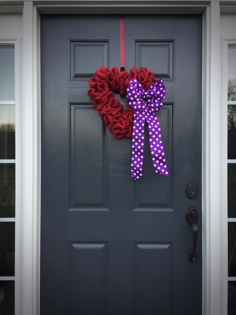
<svg viewBox="0 0 236 315">
<path fill-rule="evenodd" d="M 131 176 L 135 180 L 143 175 L 144 123 L 145 118 L 142 113 L 134 111 Z"/>
</svg>

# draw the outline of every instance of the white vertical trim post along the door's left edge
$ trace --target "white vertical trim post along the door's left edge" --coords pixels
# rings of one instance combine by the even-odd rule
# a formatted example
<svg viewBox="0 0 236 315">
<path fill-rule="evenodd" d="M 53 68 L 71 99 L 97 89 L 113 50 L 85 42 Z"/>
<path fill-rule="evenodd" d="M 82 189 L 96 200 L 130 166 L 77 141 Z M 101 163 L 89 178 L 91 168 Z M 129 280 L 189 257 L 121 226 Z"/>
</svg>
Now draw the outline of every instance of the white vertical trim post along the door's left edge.
<svg viewBox="0 0 236 315">
<path fill-rule="evenodd" d="M 39 314 L 40 100 L 37 10 L 23 8 L 22 315 Z M 39 24 L 39 23 L 38 23 Z M 37 37 L 38 36 L 38 37 Z M 38 108 L 39 106 L 39 108 Z"/>
</svg>

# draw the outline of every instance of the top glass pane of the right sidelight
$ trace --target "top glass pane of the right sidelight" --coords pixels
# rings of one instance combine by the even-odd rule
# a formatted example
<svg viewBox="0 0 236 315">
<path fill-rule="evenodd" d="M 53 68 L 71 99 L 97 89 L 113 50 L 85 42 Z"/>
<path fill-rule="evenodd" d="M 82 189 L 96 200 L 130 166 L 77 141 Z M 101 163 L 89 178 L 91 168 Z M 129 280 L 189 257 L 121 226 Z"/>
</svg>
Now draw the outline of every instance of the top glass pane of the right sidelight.
<svg viewBox="0 0 236 315">
<path fill-rule="evenodd" d="M 228 46 L 228 100 L 236 100 L 236 45 Z"/>
</svg>

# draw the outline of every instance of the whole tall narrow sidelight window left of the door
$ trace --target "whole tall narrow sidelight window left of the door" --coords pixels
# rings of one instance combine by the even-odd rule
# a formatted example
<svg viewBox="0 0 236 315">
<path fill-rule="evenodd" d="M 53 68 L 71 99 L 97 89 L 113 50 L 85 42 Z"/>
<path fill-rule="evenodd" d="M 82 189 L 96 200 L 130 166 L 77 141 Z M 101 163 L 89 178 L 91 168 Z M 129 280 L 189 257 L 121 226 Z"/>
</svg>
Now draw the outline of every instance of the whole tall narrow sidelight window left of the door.
<svg viewBox="0 0 236 315">
<path fill-rule="evenodd" d="M 14 314 L 15 65 L 14 45 L 0 45 L 0 315 Z"/>
</svg>

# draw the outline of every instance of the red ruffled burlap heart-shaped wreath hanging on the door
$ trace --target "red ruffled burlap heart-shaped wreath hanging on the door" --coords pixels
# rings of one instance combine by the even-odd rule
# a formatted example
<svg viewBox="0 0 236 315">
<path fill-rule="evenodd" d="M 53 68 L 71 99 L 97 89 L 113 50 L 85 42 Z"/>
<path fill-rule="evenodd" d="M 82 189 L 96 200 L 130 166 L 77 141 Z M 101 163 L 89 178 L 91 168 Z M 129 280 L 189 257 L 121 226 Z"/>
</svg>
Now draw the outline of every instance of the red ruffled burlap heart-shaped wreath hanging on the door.
<svg viewBox="0 0 236 315">
<path fill-rule="evenodd" d="M 133 108 L 128 106 L 123 111 L 123 106 L 115 98 L 114 93 L 109 90 L 109 86 L 114 91 L 119 90 L 121 95 L 126 95 L 130 80 L 135 78 L 143 89 L 147 90 L 152 83 L 157 81 L 154 74 L 144 67 L 141 67 L 139 71 L 133 67 L 130 69 L 130 73 L 119 72 L 117 67 L 113 67 L 111 70 L 101 67 L 95 73 L 95 76 L 88 82 L 91 89 L 87 92 L 88 96 L 93 99 L 93 106 L 97 106 L 98 113 L 116 138 L 132 138 Z"/>
</svg>

